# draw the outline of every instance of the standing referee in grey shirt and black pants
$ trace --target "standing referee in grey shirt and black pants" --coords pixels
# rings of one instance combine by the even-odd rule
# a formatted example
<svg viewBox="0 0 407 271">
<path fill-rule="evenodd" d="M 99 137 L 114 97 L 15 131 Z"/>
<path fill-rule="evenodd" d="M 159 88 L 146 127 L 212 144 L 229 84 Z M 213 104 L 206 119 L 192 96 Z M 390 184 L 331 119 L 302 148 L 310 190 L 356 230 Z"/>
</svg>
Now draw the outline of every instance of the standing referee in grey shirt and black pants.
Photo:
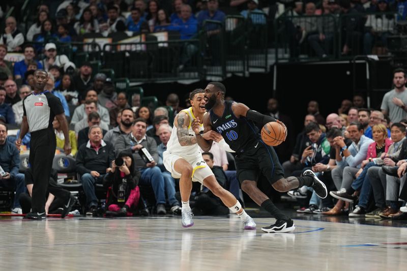
<svg viewBox="0 0 407 271">
<path fill-rule="evenodd" d="M 21 139 L 27 132 L 31 133 L 29 161 L 33 170 L 32 210 L 25 216 L 31 219 L 46 217 L 45 197 L 56 148 L 56 138 L 52 128 L 52 121 L 55 116 L 64 132 L 65 154 L 71 153 L 64 108 L 59 98 L 49 91 L 44 91 L 47 81 L 48 73 L 46 71 L 36 70 L 34 72 L 34 92 L 23 100 L 24 113 L 20 136 L 16 141 L 16 146 L 20 149 Z"/>
</svg>

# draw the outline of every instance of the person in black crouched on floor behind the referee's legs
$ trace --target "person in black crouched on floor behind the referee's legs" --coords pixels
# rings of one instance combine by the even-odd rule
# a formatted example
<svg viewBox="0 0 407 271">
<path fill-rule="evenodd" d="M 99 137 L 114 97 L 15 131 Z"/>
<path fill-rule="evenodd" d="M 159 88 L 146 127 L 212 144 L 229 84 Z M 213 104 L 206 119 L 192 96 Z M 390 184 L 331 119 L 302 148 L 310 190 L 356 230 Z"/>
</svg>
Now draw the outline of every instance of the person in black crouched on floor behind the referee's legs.
<svg viewBox="0 0 407 271">
<path fill-rule="evenodd" d="M 25 186 L 28 193 L 21 193 L 19 202 L 21 204 L 22 213 L 28 214 L 31 210 L 31 196 L 33 194 L 34 178 L 32 168 L 28 168 L 23 174 Z M 58 174 L 55 169 L 51 169 L 51 174 L 48 181 L 47 201 L 45 202 L 45 214 L 61 214 L 61 218 L 65 218 L 72 206 L 76 202 L 76 197 L 57 183 Z"/>
</svg>

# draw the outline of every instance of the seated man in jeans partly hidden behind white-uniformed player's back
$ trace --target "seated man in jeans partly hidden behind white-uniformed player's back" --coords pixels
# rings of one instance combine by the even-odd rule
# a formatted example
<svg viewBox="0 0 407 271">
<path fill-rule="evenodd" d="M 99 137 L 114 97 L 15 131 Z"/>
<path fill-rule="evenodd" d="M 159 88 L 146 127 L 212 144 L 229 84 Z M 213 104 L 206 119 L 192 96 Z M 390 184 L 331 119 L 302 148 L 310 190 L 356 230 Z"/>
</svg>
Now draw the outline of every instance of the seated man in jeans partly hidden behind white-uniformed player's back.
<svg viewBox="0 0 407 271">
<path fill-rule="evenodd" d="M 161 125 L 158 130 L 158 135 L 160 138 L 160 143 L 157 145 L 158 152 L 158 163 L 157 166 L 161 169 L 161 173 L 165 181 L 165 193 L 167 195 L 167 201 L 169 206 L 171 206 L 171 213 L 174 215 L 181 214 L 181 204 L 177 200 L 175 194 L 175 182 L 176 180 L 171 176 L 171 173 L 165 169 L 163 163 L 163 153 L 167 150 L 167 143 L 169 137 L 171 136 L 172 128 L 168 124 Z"/>
</svg>

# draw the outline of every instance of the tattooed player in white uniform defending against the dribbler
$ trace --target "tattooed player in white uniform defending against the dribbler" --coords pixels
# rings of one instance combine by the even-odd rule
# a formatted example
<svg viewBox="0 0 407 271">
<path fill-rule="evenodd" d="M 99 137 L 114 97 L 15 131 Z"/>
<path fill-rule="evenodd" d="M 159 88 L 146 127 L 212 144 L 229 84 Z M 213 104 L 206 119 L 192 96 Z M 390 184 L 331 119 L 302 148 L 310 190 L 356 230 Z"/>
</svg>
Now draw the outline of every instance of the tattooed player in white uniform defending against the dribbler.
<svg viewBox="0 0 407 271">
<path fill-rule="evenodd" d="M 232 212 L 239 215 L 245 229 L 255 229 L 253 219 L 246 214 L 240 202 L 229 191 L 223 189 L 217 182 L 215 175 L 209 166 L 203 161 L 192 123 L 196 117 L 203 119 L 206 114 L 205 92 L 203 89 L 195 89 L 191 95 L 191 107 L 184 109 L 174 119 L 174 127 L 167 143 L 167 150 L 163 154 L 165 168 L 171 172 L 172 177 L 180 178 L 180 191 L 182 201 L 182 226 L 191 227 L 192 221 L 189 197 L 191 195 L 192 181 L 206 186 L 212 193 L 219 197 Z M 200 125 L 203 132 L 203 125 Z M 222 136 L 210 131 L 202 134 L 202 137 L 219 141 Z M 220 137 L 220 138 L 219 138 Z"/>
</svg>

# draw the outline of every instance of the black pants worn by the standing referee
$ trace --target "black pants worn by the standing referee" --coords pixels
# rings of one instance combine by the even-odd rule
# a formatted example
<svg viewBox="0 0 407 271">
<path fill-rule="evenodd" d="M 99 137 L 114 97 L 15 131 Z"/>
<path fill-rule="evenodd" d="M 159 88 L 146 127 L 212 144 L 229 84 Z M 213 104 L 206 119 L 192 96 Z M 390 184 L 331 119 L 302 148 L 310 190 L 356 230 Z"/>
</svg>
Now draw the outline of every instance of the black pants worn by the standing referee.
<svg viewBox="0 0 407 271">
<path fill-rule="evenodd" d="M 56 138 L 53 130 L 43 129 L 31 133 L 30 164 L 33 169 L 33 213 L 45 212 L 45 197 L 55 149 Z"/>
</svg>

